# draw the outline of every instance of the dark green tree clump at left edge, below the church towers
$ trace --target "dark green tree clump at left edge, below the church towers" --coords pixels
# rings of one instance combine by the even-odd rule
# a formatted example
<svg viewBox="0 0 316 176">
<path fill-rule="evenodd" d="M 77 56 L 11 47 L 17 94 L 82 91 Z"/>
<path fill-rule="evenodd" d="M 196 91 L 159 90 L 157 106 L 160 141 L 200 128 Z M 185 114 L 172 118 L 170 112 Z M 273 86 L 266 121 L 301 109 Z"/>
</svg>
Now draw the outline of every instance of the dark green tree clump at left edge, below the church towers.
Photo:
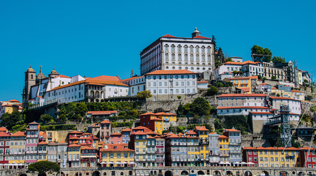
<svg viewBox="0 0 316 176">
<path fill-rule="evenodd" d="M 1 119 L 0 125 L 7 127 L 8 130 L 11 130 L 11 128 L 15 125 L 24 124 L 25 115 L 22 115 L 19 111 L 12 113 L 5 112 L 2 114 Z"/>
</svg>

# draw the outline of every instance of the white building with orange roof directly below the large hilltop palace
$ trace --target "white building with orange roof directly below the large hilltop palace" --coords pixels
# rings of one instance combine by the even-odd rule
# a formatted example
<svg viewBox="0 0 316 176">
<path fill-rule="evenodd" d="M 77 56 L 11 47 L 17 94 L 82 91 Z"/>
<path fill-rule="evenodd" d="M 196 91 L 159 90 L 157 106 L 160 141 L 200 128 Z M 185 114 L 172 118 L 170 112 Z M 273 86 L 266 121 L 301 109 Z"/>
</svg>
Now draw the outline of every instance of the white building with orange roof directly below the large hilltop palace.
<svg viewBox="0 0 316 176">
<path fill-rule="evenodd" d="M 145 74 L 145 78 L 153 100 L 174 100 L 178 95 L 197 93 L 197 75 L 188 70 L 156 70 Z"/>
</svg>

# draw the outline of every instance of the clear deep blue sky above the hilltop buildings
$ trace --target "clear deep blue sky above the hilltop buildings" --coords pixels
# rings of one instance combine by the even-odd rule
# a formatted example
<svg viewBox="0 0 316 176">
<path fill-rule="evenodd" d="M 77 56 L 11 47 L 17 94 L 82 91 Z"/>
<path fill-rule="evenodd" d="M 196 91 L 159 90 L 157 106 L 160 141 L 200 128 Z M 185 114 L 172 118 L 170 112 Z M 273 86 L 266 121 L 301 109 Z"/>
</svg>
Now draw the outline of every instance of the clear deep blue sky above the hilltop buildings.
<svg viewBox="0 0 316 176">
<path fill-rule="evenodd" d="M 140 74 L 140 52 L 160 36 L 217 39 L 250 60 L 253 45 L 315 71 L 316 1 L 1 1 L 0 100 L 22 100 L 24 72 Z M 316 76 L 316 72 L 314 73 Z"/>
</svg>

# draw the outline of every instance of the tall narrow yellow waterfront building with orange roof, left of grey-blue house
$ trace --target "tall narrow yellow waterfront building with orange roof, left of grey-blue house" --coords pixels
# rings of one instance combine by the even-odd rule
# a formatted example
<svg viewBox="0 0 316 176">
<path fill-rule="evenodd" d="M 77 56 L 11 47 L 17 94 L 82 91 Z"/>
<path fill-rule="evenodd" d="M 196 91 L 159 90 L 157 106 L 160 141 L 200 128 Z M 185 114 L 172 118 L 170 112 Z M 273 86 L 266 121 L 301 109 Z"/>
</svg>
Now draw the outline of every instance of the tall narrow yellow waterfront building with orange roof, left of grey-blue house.
<svg viewBox="0 0 316 176">
<path fill-rule="evenodd" d="M 200 162 L 197 163 L 197 166 L 206 166 L 209 164 L 209 130 L 205 126 L 196 126 L 194 131 L 200 139 Z"/>
</svg>

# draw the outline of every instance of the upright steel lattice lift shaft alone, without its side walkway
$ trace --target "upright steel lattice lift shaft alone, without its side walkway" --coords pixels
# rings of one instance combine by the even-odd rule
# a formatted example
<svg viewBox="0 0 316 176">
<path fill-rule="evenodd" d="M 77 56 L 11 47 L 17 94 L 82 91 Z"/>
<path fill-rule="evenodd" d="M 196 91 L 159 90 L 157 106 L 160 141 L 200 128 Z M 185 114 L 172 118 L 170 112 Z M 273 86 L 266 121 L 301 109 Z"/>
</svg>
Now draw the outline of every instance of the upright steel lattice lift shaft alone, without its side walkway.
<svg viewBox="0 0 316 176">
<path fill-rule="evenodd" d="M 280 106 L 279 112 L 281 113 L 281 124 L 282 124 L 282 144 L 284 148 L 292 147 L 291 142 L 291 127 L 290 127 L 290 116 L 288 105 Z"/>
</svg>

